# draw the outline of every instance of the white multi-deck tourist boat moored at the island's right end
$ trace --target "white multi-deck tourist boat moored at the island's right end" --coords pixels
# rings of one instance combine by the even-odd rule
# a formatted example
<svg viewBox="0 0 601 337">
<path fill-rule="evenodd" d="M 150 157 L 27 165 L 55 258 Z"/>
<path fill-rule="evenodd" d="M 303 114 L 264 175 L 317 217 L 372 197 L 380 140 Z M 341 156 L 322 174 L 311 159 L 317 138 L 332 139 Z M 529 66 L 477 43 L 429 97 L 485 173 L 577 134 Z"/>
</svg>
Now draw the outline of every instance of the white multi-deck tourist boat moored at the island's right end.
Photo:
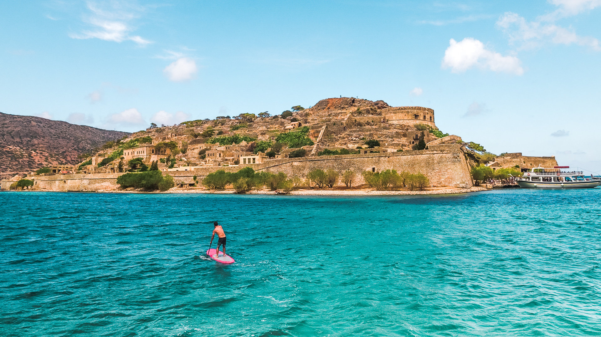
<svg viewBox="0 0 601 337">
<path fill-rule="evenodd" d="M 555 166 L 552 169 L 535 167 L 517 177 L 517 185 L 526 188 L 593 188 L 601 178 L 584 176 L 582 171 L 561 171 L 569 166 Z"/>
</svg>

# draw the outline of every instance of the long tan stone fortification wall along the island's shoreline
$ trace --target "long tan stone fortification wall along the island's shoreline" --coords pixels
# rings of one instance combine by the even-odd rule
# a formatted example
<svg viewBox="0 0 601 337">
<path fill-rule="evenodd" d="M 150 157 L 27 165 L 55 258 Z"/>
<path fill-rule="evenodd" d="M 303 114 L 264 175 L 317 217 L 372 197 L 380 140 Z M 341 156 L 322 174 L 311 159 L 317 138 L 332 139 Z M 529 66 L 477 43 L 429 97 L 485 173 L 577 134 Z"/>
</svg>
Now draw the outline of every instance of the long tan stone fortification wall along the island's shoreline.
<svg viewBox="0 0 601 337">
<path fill-rule="evenodd" d="M 471 187 L 469 167 L 460 145 L 433 145 L 428 150 L 388 152 L 379 154 L 337 155 L 322 157 L 284 158 L 270 160 L 263 164 L 250 164 L 225 167 L 199 167 L 194 171 L 169 171 L 175 183 L 194 183 L 216 170 L 236 172 L 250 166 L 255 171 L 270 173 L 284 172 L 288 177 L 306 177 L 315 169 L 346 170 L 355 172 L 353 185 L 365 183 L 362 171 L 397 170 L 409 173 L 423 173 L 432 186 Z M 99 191 L 117 186 L 117 177 L 123 173 L 63 174 L 56 176 L 34 176 L 34 189 L 53 191 Z M 163 173 L 165 174 L 165 173 Z M 2 189 L 8 189 L 12 181 L 2 181 Z M 338 185 L 344 185 L 339 182 Z"/>
</svg>

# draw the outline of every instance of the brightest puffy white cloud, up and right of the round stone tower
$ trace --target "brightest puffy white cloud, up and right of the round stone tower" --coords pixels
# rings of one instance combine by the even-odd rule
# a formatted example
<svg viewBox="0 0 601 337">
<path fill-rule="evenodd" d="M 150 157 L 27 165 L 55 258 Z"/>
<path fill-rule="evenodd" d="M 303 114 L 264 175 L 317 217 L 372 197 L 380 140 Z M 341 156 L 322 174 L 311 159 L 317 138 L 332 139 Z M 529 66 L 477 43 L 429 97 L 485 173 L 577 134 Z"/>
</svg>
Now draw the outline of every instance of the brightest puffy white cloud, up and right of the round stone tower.
<svg viewBox="0 0 601 337">
<path fill-rule="evenodd" d="M 442 68 L 451 68 L 452 73 L 463 73 L 473 67 L 516 75 L 524 72 L 518 58 L 487 50 L 483 43 L 474 38 L 464 38 L 460 42 L 451 38 L 449 43 L 442 59 Z"/>
</svg>

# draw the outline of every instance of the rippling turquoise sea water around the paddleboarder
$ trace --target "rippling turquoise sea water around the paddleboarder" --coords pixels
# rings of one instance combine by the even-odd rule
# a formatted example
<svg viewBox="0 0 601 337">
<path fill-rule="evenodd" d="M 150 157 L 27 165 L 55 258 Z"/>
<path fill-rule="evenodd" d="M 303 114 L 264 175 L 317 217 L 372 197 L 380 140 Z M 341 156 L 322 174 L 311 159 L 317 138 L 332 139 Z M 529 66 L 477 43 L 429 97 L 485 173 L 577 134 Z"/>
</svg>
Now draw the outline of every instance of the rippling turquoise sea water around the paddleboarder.
<svg viewBox="0 0 601 337">
<path fill-rule="evenodd" d="M 0 335 L 601 335 L 600 191 L 1 192 Z"/>
</svg>

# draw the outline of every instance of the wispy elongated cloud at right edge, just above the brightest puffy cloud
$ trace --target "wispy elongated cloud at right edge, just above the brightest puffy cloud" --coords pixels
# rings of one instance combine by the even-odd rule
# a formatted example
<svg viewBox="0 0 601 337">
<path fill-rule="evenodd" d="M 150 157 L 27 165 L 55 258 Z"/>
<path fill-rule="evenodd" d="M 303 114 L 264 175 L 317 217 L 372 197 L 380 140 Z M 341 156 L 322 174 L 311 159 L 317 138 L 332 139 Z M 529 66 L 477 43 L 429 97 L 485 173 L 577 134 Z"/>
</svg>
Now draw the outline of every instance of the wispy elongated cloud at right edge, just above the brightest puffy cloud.
<svg viewBox="0 0 601 337">
<path fill-rule="evenodd" d="M 577 35 L 573 29 L 543 21 L 548 19 L 540 17 L 537 21 L 528 22 L 516 13 L 507 12 L 499 17 L 496 26 L 508 35 L 510 43 L 519 43 L 521 49 L 540 47 L 550 42 L 566 46 L 578 44 L 593 50 L 601 50 L 599 40 L 596 38 L 582 37 Z"/>
</svg>

